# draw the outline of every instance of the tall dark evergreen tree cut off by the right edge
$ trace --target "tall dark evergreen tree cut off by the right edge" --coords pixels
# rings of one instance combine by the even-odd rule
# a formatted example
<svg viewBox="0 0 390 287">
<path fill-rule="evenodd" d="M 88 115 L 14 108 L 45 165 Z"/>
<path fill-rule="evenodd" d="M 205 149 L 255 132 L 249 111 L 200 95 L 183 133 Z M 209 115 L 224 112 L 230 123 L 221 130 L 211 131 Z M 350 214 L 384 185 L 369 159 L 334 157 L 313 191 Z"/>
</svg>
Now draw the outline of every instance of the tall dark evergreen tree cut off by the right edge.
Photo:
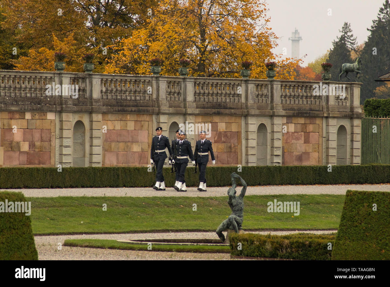
<svg viewBox="0 0 390 287">
<path fill-rule="evenodd" d="M 361 67 L 362 77 L 359 82 L 363 83 L 360 91 L 360 103 L 375 96 L 375 89 L 383 86 L 378 80 L 389 71 L 390 68 L 390 3 L 386 0 L 379 9 L 378 17 L 372 21 L 371 32 L 362 50 Z"/>
</svg>

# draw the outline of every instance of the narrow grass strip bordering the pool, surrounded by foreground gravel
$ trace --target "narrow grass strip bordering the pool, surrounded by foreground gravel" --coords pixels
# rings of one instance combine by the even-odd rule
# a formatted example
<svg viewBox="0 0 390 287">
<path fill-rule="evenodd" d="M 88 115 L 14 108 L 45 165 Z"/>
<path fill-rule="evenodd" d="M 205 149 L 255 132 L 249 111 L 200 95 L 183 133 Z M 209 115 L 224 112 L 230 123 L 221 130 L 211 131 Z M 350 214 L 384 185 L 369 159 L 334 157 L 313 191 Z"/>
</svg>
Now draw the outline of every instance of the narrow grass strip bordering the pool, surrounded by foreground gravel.
<svg viewBox="0 0 390 287">
<path fill-rule="evenodd" d="M 148 250 L 147 244 L 129 244 L 116 240 L 106 239 L 66 239 L 64 246 L 121 249 L 121 250 L 144 250 L 144 251 L 172 251 L 172 252 L 194 252 L 194 253 L 230 253 L 229 246 L 200 246 L 200 245 L 151 245 Z"/>
</svg>

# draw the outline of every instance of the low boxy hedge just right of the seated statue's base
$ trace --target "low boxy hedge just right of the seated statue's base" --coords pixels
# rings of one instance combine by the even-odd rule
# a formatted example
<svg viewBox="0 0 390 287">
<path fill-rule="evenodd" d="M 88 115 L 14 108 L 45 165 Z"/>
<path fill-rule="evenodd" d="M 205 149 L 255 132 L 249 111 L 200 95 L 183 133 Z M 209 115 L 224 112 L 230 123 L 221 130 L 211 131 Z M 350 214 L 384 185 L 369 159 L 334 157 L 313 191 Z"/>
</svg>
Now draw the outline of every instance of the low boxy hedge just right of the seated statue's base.
<svg viewBox="0 0 390 287">
<path fill-rule="evenodd" d="M 330 260 L 335 235 L 307 233 L 289 235 L 232 234 L 229 237 L 231 255 L 247 257 L 285 258 L 298 260 Z M 238 249 L 241 243 L 241 250 Z"/>
</svg>

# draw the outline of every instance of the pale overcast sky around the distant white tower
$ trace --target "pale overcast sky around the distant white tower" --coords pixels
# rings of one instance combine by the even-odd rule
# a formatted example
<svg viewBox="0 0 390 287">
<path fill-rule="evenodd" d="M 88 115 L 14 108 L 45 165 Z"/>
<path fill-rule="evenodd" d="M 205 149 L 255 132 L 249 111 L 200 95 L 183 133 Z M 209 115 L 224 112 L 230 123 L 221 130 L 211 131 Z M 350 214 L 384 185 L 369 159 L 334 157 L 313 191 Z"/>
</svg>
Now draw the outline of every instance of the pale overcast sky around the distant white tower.
<svg viewBox="0 0 390 287">
<path fill-rule="evenodd" d="M 267 0 L 271 17 L 269 27 L 280 37 L 278 46 L 273 50 L 280 54 L 287 48 L 287 55 L 291 57 L 291 33 L 296 29 L 300 32 L 300 57 L 303 66 L 314 61 L 319 55 L 332 48 L 332 41 L 340 36 L 344 22 L 351 24 L 353 35 L 358 44 L 367 41 L 372 20 L 377 18 L 379 8 L 385 0 Z M 332 16 L 328 16 L 328 9 L 332 9 Z"/>
</svg>

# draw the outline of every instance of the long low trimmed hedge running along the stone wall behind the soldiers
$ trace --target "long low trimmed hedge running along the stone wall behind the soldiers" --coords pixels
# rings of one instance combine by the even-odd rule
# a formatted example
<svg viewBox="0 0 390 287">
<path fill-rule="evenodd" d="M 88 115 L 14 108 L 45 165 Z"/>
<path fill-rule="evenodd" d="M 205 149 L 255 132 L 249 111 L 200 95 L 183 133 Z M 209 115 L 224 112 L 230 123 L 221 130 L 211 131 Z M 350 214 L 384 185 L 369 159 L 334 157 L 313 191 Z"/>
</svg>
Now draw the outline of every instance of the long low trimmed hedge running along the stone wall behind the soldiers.
<svg viewBox="0 0 390 287">
<path fill-rule="evenodd" d="M 85 168 L 0 168 L 0 188 L 65 188 L 65 187 L 151 187 L 156 173 L 147 167 L 85 167 Z M 199 171 L 186 169 L 186 185 L 199 184 Z M 228 186 L 230 174 L 237 167 L 208 167 L 207 185 Z M 175 174 L 164 168 L 165 185 L 173 187 Z M 390 165 L 332 166 L 243 166 L 239 172 L 250 186 L 286 184 L 378 184 L 390 182 Z"/>
</svg>

